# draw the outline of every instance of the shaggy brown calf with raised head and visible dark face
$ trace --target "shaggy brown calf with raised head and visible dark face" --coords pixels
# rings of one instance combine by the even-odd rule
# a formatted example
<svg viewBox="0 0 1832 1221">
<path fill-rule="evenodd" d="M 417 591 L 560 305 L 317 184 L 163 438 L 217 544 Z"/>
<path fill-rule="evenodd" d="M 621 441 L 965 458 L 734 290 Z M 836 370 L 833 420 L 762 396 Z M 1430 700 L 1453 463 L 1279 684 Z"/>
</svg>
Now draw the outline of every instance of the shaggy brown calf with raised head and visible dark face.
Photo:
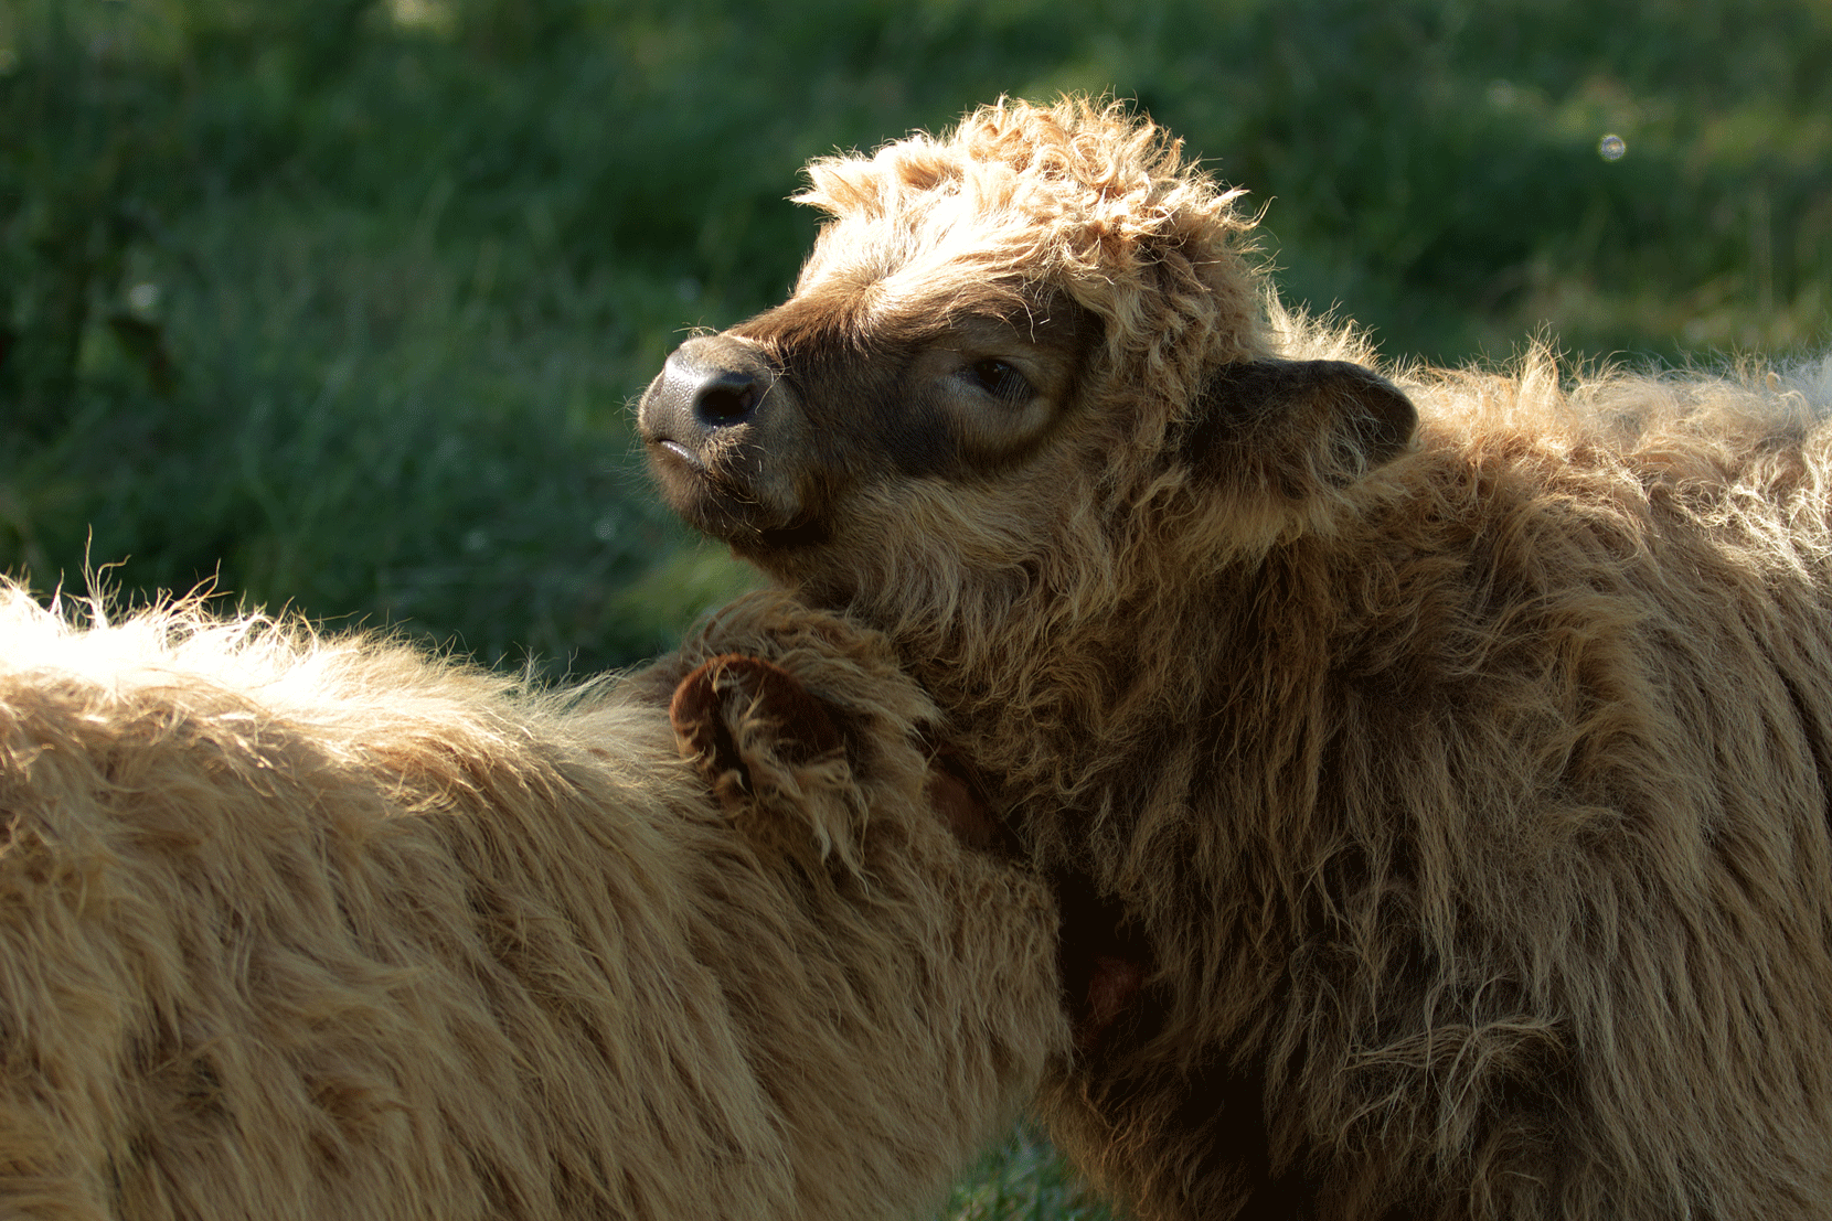
<svg viewBox="0 0 1832 1221">
<path fill-rule="evenodd" d="M 810 174 L 795 295 L 643 436 L 1061 879 L 1081 1164 L 1149 1219 L 1832 1214 L 1832 364 L 1378 375 L 1116 110 Z"/>
</svg>

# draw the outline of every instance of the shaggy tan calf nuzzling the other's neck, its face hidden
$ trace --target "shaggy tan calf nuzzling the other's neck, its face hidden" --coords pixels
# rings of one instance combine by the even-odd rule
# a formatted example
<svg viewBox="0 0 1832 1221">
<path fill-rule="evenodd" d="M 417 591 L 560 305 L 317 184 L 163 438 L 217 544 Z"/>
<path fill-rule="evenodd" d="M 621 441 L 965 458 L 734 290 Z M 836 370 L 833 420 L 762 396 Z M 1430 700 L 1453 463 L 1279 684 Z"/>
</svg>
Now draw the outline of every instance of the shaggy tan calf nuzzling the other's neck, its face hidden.
<svg viewBox="0 0 1832 1221">
<path fill-rule="evenodd" d="M 1066 1045 L 1055 915 L 931 811 L 887 644 L 764 597 L 621 683 L 511 686 L 0 591 L 0 1214 L 945 1192 Z"/>
</svg>

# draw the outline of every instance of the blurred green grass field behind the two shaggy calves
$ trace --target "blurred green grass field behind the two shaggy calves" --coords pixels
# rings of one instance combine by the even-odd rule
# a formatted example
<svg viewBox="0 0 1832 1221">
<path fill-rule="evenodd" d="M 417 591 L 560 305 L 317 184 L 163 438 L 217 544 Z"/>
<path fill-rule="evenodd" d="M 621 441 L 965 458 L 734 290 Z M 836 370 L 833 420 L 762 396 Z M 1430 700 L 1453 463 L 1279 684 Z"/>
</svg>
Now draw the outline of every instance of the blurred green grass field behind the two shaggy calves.
<svg viewBox="0 0 1832 1221">
<path fill-rule="evenodd" d="M 0 0 L 0 569 L 661 650 L 749 577 L 628 401 L 810 156 L 1000 93 L 1134 99 L 1389 355 L 1823 350 L 1827 62 L 1823 0 Z M 953 1216 L 1079 1208 L 1020 1131 Z"/>
</svg>

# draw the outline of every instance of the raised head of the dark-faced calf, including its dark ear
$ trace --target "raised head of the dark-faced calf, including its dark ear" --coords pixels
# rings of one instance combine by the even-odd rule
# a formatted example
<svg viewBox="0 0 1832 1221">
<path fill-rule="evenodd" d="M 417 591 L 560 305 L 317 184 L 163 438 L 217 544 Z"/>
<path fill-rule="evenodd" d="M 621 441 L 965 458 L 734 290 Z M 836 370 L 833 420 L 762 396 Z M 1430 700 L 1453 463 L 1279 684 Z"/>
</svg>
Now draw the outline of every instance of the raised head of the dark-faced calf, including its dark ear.
<svg viewBox="0 0 1832 1221">
<path fill-rule="evenodd" d="M 1412 434 L 1372 372 L 1275 357 L 1238 192 L 1118 108 L 1002 103 L 810 176 L 793 297 L 682 344 L 639 430 L 678 513 L 812 600 L 1030 593 L 1141 511 L 1251 546 Z"/>
</svg>

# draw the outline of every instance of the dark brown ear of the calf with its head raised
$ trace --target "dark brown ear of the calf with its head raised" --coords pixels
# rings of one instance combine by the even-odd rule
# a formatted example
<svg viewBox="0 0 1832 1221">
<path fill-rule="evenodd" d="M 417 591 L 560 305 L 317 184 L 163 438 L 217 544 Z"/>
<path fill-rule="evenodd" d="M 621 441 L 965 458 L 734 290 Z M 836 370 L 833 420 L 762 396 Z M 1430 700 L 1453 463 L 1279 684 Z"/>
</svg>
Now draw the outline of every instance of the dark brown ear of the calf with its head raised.
<svg viewBox="0 0 1832 1221">
<path fill-rule="evenodd" d="M 1348 361 L 1240 361 L 1209 375 L 1178 439 L 1215 480 L 1262 476 L 1299 500 L 1398 458 L 1418 428 L 1412 401 Z"/>
</svg>

